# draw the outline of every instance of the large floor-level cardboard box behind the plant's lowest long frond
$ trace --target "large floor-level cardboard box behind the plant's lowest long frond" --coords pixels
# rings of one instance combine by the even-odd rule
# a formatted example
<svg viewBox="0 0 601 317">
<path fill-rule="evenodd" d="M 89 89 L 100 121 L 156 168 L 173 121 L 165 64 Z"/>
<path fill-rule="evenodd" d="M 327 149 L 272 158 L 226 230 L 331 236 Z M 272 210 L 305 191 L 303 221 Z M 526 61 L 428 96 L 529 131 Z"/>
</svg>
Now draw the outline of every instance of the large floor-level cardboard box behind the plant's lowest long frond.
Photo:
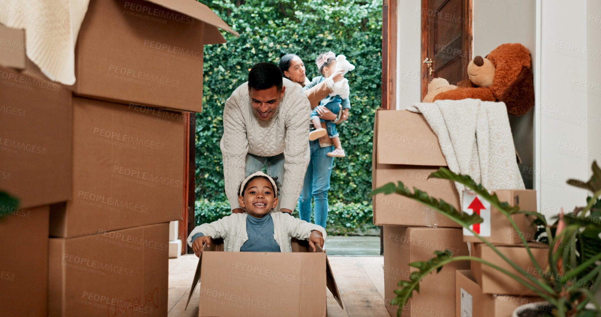
<svg viewBox="0 0 601 317">
<path fill-rule="evenodd" d="M 396 297 L 398 281 L 409 280 L 411 272 L 418 271 L 409 263 L 432 259 L 436 250 L 449 249 L 456 256 L 468 255 L 468 246 L 461 235 L 461 229 L 456 228 L 384 226 L 384 299 L 391 316 L 397 316 L 398 306 L 390 303 Z M 467 268 L 469 262 L 453 262 L 438 274 L 424 277 L 419 283 L 419 294 L 413 293 L 402 316 L 453 316 L 455 270 Z"/>
</svg>

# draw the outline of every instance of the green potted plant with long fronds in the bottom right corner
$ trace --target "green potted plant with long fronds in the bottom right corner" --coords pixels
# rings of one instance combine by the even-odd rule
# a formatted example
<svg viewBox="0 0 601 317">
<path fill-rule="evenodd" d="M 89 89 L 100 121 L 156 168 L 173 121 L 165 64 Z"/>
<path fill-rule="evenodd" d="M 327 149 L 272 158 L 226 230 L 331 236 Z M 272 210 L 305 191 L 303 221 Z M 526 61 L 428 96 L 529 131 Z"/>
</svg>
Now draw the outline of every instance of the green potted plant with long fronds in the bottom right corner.
<svg viewBox="0 0 601 317">
<path fill-rule="evenodd" d="M 441 167 L 429 177 L 451 180 L 462 183 L 466 188 L 486 199 L 492 208 L 498 209 L 507 217 L 513 229 L 519 233 L 522 243 L 532 261 L 532 266 L 537 272 L 544 274 L 533 275 L 520 268 L 516 263 L 508 259 L 494 245 L 484 239 L 470 228 L 472 224 L 481 223 L 483 220 L 477 214 L 463 214 L 453 206 L 430 197 L 426 192 L 417 188 L 411 191 L 402 182 L 387 183 L 374 189 L 370 195 L 399 194 L 409 199 L 423 203 L 427 207 L 439 212 L 447 218 L 455 221 L 463 228 L 469 230 L 484 244 L 488 245 L 519 274 L 513 274 L 495 263 L 487 262 L 474 256 L 453 256 L 450 250 L 435 251 L 435 257 L 427 261 L 409 263 L 418 271 L 410 274 L 409 280 L 398 282 L 399 288 L 394 292 L 397 297 L 392 304 L 398 305 L 397 315 L 400 316 L 401 309 L 413 295 L 413 291 L 419 291 L 419 282 L 427 274 L 441 271 L 444 265 L 461 260 L 473 260 L 483 265 L 497 269 L 502 274 L 508 275 L 516 283 L 520 283 L 534 291 L 543 298 L 543 304 L 538 303 L 535 309 L 526 309 L 526 312 L 517 312 L 519 317 L 530 316 L 554 316 L 554 317 L 594 317 L 599 314 L 599 303 L 594 298 L 596 288 L 601 283 L 601 169 L 593 162 L 593 176 L 588 182 L 580 180 L 568 180 L 567 183 L 582 188 L 587 188 L 593 195 L 588 197 L 587 206 L 576 208 L 571 214 L 562 218 L 556 217 L 554 224 L 549 225 L 542 214 L 538 212 L 520 211 L 519 206 L 510 206 L 507 202 L 499 202 L 496 194 L 490 194 L 482 185 L 477 184 L 471 177 L 453 173 L 447 168 Z M 549 244 L 549 265 L 541 268 L 532 256 L 532 252 L 516 223 L 511 218 L 513 214 L 526 214 L 535 217 L 535 224 L 540 228 L 538 236 L 540 241 Z M 531 315 L 528 315 L 531 314 Z M 534 315 L 532 315 L 534 314 Z"/>
</svg>

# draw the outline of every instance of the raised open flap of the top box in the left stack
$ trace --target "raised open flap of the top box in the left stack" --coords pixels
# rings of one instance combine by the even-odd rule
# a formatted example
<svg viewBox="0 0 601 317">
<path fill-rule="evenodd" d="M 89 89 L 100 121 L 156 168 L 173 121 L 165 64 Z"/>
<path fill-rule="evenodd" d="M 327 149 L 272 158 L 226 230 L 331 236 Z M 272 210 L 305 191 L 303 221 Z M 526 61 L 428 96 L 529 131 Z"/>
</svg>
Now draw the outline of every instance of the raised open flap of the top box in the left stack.
<svg viewBox="0 0 601 317">
<path fill-rule="evenodd" d="M 169 10 L 177 11 L 179 13 L 186 14 L 187 16 L 194 17 L 197 20 L 203 21 L 209 25 L 215 26 L 215 28 L 223 29 L 231 34 L 240 36 L 238 32 L 230 28 L 224 20 L 219 19 L 217 14 L 213 12 L 209 7 L 196 0 L 146 0 L 153 2 L 162 7 L 168 8 Z M 209 29 L 212 29 L 209 31 Z M 219 44 L 225 43 L 224 37 L 219 31 L 213 28 L 206 28 L 204 33 L 205 44 Z"/>
</svg>

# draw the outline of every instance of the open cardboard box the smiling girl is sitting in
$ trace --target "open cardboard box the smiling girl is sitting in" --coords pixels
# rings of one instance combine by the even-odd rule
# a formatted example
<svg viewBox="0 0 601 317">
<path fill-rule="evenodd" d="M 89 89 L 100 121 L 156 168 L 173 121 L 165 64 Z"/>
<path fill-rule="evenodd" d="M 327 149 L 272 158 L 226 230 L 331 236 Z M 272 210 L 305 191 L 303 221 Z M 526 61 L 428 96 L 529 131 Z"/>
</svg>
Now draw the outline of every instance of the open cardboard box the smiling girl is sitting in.
<svg viewBox="0 0 601 317">
<path fill-rule="evenodd" d="M 326 286 L 344 309 L 325 250 L 292 239 L 292 253 L 224 252 L 205 245 L 192 280 L 200 285 L 198 316 L 326 316 Z"/>
</svg>

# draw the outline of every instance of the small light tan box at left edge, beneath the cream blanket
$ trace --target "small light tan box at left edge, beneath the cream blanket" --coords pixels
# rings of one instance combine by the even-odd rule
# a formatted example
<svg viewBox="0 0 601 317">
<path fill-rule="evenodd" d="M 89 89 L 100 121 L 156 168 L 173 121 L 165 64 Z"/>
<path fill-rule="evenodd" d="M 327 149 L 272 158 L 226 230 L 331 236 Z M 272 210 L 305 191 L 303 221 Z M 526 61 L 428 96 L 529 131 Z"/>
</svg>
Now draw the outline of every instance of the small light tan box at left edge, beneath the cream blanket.
<svg viewBox="0 0 601 317">
<path fill-rule="evenodd" d="M 30 49 L 25 45 L 25 29 L 9 28 L 0 24 L 0 65 L 14 69 L 25 68 L 25 52 Z"/>
</svg>

